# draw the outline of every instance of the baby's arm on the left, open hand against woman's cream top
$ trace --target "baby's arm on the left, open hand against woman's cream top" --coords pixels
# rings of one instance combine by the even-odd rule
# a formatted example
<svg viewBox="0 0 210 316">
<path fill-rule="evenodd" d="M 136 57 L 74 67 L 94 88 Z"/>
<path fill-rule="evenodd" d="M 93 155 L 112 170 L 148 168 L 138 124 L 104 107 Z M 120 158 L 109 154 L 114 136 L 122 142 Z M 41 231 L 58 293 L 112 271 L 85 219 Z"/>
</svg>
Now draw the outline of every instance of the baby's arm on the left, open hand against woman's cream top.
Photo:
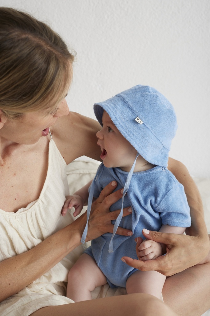
<svg viewBox="0 0 210 316">
<path fill-rule="evenodd" d="M 61 210 L 61 214 L 63 216 L 65 216 L 67 210 L 71 209 L 73 206 L 75 208 L 73 215 L 77 216 L 78 214 L 80 214 L 83 206 L 88 204 L 88 188 L 91 185 L 91 182 L 92 180 L 89 181 L 86 185 L 84 185 L 81 189 L 76 191 L 73 195 L 69 195 L 66 197 L 64 206 Z"/>
</svg>

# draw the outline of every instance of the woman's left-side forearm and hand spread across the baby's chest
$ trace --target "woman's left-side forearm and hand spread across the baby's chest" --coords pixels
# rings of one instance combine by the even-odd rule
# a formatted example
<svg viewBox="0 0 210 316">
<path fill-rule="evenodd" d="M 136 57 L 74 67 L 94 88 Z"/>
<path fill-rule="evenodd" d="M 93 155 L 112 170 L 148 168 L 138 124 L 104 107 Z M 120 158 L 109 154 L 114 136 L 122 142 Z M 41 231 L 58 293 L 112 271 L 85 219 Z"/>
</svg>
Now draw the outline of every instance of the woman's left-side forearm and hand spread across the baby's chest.
<svg viewBox="0 0 210 316">
<path fill-rule="evenodd" d="M 109 208 L 122 198 L 121 190 L 110 194 L 116 188 L 116 185 L 116 182 L 112 181 L 93 203 L 88 221 L 87 241 L 97 238 L 101 234 L 113 232 L 114 226 L 111 221 L 117 218 L 120 210 L 110 212 Z M 128 209 L 123 210 L 123 216 L 130 214 Z M 2 289 L 0 291 L 0 301 L 14 295 L 42 276 L 71 250 L 80 245 L 85 225 L 86 213 L 31 250 L 0 262 L 0 288 Z M 131 230 L 123 228 L 119 228 L 117 231 L 121 235 L 128 235 L 130 232 Z"/>
</svg>

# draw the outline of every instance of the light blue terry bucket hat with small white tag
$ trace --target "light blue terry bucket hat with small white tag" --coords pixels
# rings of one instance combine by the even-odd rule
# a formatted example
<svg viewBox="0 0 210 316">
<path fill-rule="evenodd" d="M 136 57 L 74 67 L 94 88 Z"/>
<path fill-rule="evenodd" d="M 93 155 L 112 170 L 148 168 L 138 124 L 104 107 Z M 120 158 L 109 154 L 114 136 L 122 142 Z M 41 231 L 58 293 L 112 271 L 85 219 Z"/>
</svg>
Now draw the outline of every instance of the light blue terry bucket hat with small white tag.
<svg viewBox="0 0 210 316">
<path fill-rule="evenodd" d="M 146 161 L 167 167 L 177 122 L 173 106 L 160 92 L 149 86 L 137 85 L 106 101 L 95 103 L 94 113 L 101 125 L 104 110 Z"/>
</svg>

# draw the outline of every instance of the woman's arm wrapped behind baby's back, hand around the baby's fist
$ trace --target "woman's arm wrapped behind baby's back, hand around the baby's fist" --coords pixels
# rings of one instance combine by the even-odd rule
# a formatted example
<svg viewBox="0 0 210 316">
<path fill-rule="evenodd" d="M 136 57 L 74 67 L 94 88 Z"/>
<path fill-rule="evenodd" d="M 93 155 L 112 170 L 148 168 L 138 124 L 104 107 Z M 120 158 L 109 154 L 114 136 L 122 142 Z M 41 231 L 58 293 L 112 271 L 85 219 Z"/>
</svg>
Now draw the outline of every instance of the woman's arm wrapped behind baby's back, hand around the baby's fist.
<svg viewBox="0 0 210 316">
<path fill-rule="evenodd" d="M 128 265 L 139 270 L 157 270 L 170 276 L 183 271 L 204 259 L 209 252 L 209 238 L 204 222 L 201 196 L 195 182 L 187 168 L 179 161 L 169 158 L 168 169 L 177 180 L 184 185 L 184 191 L 190 206 L 191 227 L 186 229 L 187 235 L 161 233 L 143 230 L 147 239 L 151 239 L 167 246 L 167 254 L 154 260 L 139 261 L 123 257 Z M 139 238 L 136 245 L 137 252 L 141 243 Z"/>
</svg>

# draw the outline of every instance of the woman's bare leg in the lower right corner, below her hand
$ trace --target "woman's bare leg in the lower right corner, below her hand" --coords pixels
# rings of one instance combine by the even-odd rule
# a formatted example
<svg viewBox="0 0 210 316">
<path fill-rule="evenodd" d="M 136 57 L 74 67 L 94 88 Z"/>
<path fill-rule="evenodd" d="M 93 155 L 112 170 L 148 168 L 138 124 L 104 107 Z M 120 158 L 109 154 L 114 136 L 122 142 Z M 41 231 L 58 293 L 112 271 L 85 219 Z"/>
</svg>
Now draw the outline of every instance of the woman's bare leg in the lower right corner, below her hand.
<svg viewBox="0 0 210 316">
<path fill-rule="evenodd" d="M 180 316 L 200 316 L 210 308 L 210 253 L 205 261 L 166 279 L 163 300 Z"/>
</svg>

